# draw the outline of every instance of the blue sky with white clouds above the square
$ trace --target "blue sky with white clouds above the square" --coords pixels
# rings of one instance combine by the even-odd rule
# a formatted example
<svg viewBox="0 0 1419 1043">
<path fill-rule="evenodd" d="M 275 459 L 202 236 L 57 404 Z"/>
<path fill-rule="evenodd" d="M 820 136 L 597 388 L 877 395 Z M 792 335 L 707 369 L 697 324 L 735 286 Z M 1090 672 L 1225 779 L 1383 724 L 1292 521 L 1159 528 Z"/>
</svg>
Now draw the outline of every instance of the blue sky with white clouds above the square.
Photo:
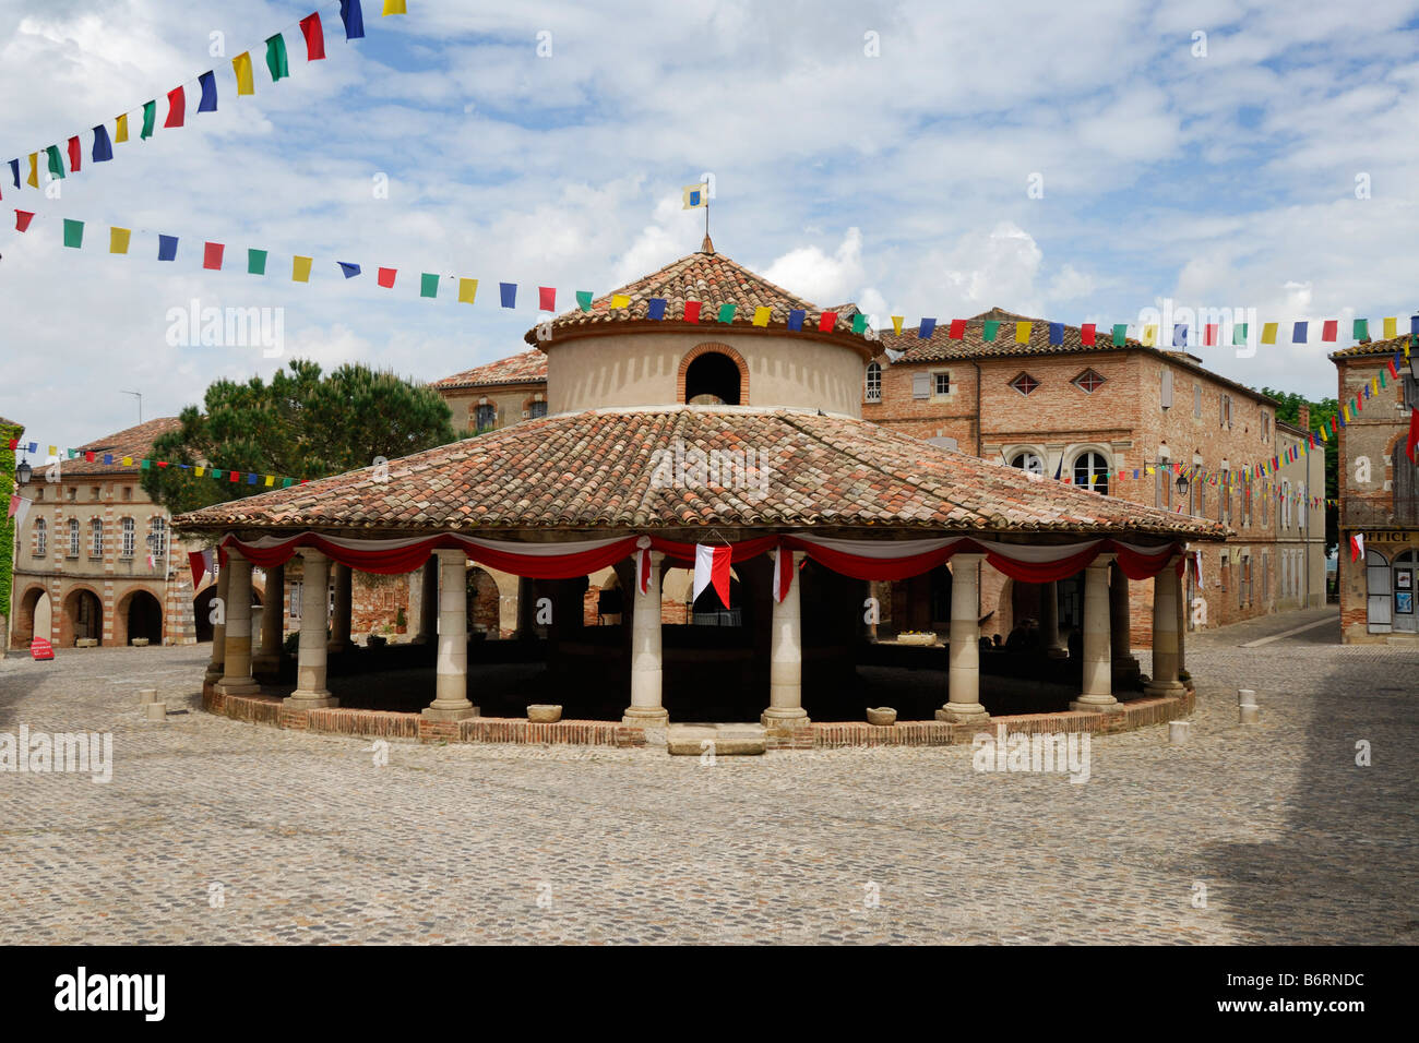
<svg viewBox="0 0 1419 1043">
<path fill-rule="evenodd" d="M 420 379 L 521 351 L 535 295 L 501 309 L 498 281 L 556 287 L 562 308 L 692 251 L 702 213 L 680 190 L 702 173 L 721 253 L 908 322 L 1137 322 L 1172 298 L 1344 335 L 1419 307 L 1419 3 L 380 3 L 352 43 L 319 7 L 329 57 L 307 62 L 309 0 L 0 0 L 0 414 L 27 438 L 79 444 L 138 419 L 125 390 L 150 419 L 282 362 L 170 343 L 192 302 L 281 309 L 287 359 Z M 244 50 L 255 95 L 237 98 Z M 196 114 L 190 84 L 187 125 L 163 129 L 167 91 L 209 68 L 219 111 Z M 133 140 L 92 165 L 89 128 L 122 111 Z M 84 166 L 57 199 L 13 187 L 10 158 L 74 133 Z M 23 236 L 13 207 L 40 214 Z M 133 228 L 129 255 L 109 226 Z M 224 271 L 203 271 L 204 240 Z M 270 251 L 265 278 L 247 247 Z M 315 257 L 309 284 L 294 254 Z M 478 278 L 478 301 L 448 281 L 420 299 L 426 271 Z M 1281 339 L 1196 351 L 1334 394 L 1334 346 Z"/>
</svg>

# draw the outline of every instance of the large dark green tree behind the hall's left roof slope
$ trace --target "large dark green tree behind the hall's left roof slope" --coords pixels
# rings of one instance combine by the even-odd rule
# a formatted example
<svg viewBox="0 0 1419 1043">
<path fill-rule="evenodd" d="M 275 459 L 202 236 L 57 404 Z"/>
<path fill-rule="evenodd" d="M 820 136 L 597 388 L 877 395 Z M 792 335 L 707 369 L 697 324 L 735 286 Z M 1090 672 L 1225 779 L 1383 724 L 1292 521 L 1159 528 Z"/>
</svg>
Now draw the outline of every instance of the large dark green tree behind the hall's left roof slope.
<svg viewBox="0 0 1419 1043">
<path fill-rule="evenodd" d="M 153 457 L 169 465 L 143 471 L 143 490 L 182 514 L 265 492 L 263 480 L 245 482 L 248 471 L 275 475 L 277 485 L 324 478 L 458 437 L 448 403 L 427 385 L 355 363 L 322 376 L 318 363 L 297 359 L 288 370 L 270 383 L 254 376 L 211 385 L 200 407 L 187 406 L 180 426 L 153 441 Z M 237 468 L 243 480 L 226 471 L 199 478 L 193 465 Z"/>
</svg>

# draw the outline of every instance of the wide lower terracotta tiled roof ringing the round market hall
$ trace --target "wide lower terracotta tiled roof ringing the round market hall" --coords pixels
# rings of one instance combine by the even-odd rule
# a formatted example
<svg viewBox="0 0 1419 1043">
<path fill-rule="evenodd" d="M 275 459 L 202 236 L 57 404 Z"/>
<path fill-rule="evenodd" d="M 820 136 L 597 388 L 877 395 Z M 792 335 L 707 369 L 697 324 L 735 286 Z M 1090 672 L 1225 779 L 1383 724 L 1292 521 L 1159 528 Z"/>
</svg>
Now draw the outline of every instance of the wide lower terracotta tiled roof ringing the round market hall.
<svg viewBox="0 0 1419 1043">
<path fill-rule="evenodd" d="M 755 450 L 762 495 L 651 484 L 657 450 Z M 1220 539 L 1216 522 L 1103 497 L 885 427 L 800 410 L 592 410 L 491 431 L 373 470 L 236 500 L 186 529 L 658 529 L 807 525 L 927 531 L 1137 532 Z M 731 482 L 732 485 L 732 482 Z M 866 535 L 866 532 L 864 532 Z"/>
</svg>

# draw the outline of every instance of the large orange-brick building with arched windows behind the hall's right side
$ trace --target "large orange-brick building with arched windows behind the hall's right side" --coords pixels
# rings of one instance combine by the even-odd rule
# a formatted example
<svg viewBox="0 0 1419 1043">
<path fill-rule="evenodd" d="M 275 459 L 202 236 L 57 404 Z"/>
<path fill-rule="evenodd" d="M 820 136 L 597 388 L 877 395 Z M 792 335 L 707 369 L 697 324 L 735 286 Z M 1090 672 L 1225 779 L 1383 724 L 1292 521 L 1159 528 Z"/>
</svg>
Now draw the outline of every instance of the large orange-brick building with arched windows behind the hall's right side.
<svg viewBox="0 0 1419 1043">
<path fill-rule="evenodd" d="M 1023 343 L 1022 321 L 1032 324 Z M 1189 629 L 1321 605 L 1324 457 L 1301 451 L 1274 475 L 1237 480 L 1307 444 L 1304 431 L 1276 421 L 1277 403 L 1183 351 L 1134 339 L 1114 346 L 1107 336 L 1086 345 L 1077 326 L 1061 339 L 1050 343 L 1049 322 L 1000 308 L 968 319 L 961 339 L 945 328 L 928 339 L 918 331 L 883 335 L 884 351 L 863 380 L 863 419 L 1103 495 L 1225 522 L 1233 535 L 1199 548 L 1200 590 L 1189 570 Z M 939 624 L 939 586 L 918 578 L 908 590 L 894 589 L 897 629 Z M 1077 626 L 1078 586 L 1059 585 L 1060 626 Z M 1131 590 L 1139 646 L 1148 641 L 1148 587 Z M 986 631 L 1005 636 L 1042 609 L 1037 590 L 990 575 L 982 578 L 981 610 Z"/>
</svg>

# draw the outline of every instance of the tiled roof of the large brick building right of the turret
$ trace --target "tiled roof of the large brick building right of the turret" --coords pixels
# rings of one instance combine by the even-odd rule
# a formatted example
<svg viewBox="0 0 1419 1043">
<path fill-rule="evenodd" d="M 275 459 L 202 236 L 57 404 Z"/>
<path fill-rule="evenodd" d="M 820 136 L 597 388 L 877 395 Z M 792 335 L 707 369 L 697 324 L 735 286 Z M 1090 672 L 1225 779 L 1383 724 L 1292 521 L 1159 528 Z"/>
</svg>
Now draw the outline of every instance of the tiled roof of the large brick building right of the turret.
<svg viewBox="0 0 1419 1043">
<path fill-rule="evenodd" d="M 985 339 L 985 324 L 988 319 L 1000 322 L 999 329 L 996 329 L 995 341 Z M 1030 339 L 1027 343 L 1015 342 L 1016 322 L 1033 324 L 1030 326 Z M 1225 376 L 1213 373 L 1195 356 L 1185 351 L 1152 348 L 1132 336 L 1125 336 L 1124 343 L 1115 346 L 1112 324 L 1098 324 L 1095 331 L 1097 339 L 1093 345 L 1084 343 L 1078 326 L 1064 326 L 1061 331 L 1063 343 L 1050 343 L 1049 319 L 1039 319 L 1032 315 L 1019 315 L 1016 312 L 1006 311 L 1005 308 L 990 308 L 990 311 L 981 312 L 979 315 L 973 315 L 966 319 L 965 336 L 959 341 L 951 339 L 949 321 L 938 322 L 937 328 L 931 333 L 931 338 L 927 341 L 921 339 L 918 335 L 920 331 L 920 326 L 914 326 L 911 329 L 902 329 L 900 336 L 891 332 L 881 333 L 878 341 L 878 362 L 883 362 L 884 365 L 887 363 L 884 352 L 888 348 L 894 352 L 904 352 L 895 363 L 891 363 L 898 366 L 910 365 L 912 362 L 1005 359 L 1027 358 L 1034 355 L 1077 355 L 1080 352 L 1149 352 L 1161 359 L 1166 359 L 1168 362 L 1181 366 L 1182 369 L 1242 392 L 1257 402 L 1276 404 L 1271 399 L 1260 394 L 1256 389 L 1239 385 L 1235 380 L 1229 380 Z"/>
</svg>

